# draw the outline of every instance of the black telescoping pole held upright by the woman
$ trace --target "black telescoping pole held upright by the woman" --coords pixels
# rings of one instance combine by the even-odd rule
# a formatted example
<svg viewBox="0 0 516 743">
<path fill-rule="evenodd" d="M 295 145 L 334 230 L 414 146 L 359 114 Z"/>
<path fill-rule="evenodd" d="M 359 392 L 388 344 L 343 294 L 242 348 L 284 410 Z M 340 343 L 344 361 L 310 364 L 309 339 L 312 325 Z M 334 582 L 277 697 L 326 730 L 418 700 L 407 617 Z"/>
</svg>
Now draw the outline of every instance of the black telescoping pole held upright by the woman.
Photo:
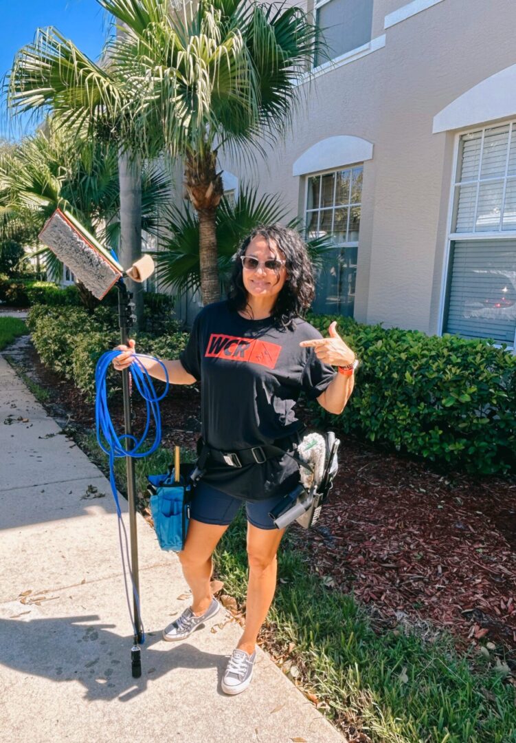
<svg viewBox="0 0 516 743">
<path fill-rule="evenodd" d="M 128 328 L 134 323 L 134 304 L 130 300 L 132 294 L 127 291 L 127 287 L 122 280 L 117 282 L 118 288 L 118 319 L 120 324 L 120 341 L 122 345 L 128 343 Z M 124 406 L 124 424 L 125 424 L 125 449 L 131 446 L 132 422 L 131 422 L 131 392 L 129 389 L 128 369 L 122 371 L 122 389 L 123 389 L 123 406 Z M 134 616 L 134 644 L 131 648 L 131 670 L 133 678 L 140 678 L 142 675 L 142 661 L 140 654 L 140 643 L 143 640 L 142 623 L 140 619 L 140 606 L 137 596 L 140 596 L 140 580 L 138 575 L 138 536 L 136 528 L 136 478 L 134 476 L 134 459 L 130 456 L 125 457 L 125 467 L 127 472 L 127 494 L 129 504 L 129 535 L 131 539 L 131 574 L 133 580 L 133 616 Z"/>
</svg>

